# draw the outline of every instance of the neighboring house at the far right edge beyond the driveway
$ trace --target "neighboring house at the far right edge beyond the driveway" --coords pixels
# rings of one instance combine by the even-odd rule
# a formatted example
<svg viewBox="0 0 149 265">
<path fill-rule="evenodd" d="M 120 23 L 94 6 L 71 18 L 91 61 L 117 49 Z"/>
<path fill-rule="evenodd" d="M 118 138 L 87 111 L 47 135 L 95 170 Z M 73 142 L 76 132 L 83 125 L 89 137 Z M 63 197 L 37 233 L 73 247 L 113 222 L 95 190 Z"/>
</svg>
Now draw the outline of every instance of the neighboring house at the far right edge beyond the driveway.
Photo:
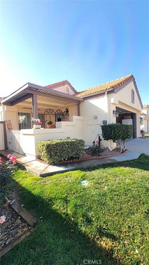
<svg viewBox="0 0 149 265">
<path fill-rule="evenodd" d="M 148 104 L 143 105 L 141 117 L 143 120 L 140 122 L 140 129 L 144 130 L 145 132 L 149 132 L 149 106 Z"/>
</svg>

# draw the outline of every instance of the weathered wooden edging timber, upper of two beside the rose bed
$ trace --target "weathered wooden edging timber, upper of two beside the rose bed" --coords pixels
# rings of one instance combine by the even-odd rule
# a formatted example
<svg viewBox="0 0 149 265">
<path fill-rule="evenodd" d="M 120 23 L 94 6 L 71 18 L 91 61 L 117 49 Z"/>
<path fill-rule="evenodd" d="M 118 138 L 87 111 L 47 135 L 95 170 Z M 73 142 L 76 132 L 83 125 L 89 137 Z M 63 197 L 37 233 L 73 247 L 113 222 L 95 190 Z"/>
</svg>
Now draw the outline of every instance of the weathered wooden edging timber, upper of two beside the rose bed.
<svg viewBox="0 0 149 265">
<path fill-rule="evenodd" d="M 10 205 L 29 225 L 34 226 L 36 224 L 37 219 L 17 203 L 16 200 L 10 202 Z"/>
</svg>

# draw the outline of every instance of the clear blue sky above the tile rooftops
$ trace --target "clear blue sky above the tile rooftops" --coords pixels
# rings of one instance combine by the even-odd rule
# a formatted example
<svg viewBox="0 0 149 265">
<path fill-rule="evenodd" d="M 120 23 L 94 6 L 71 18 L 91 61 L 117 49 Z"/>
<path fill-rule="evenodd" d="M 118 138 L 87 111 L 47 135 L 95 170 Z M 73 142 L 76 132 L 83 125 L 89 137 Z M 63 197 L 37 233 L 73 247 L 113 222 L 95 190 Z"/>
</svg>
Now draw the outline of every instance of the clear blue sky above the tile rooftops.
<svg viewBox="0 0 149 265">
<path fill-rule="evenodd" d="M 67 79 L 77 91 L 133 74 L 149 103 L 148 1 L 1 1 L 1 92 Z"/>
</svg>

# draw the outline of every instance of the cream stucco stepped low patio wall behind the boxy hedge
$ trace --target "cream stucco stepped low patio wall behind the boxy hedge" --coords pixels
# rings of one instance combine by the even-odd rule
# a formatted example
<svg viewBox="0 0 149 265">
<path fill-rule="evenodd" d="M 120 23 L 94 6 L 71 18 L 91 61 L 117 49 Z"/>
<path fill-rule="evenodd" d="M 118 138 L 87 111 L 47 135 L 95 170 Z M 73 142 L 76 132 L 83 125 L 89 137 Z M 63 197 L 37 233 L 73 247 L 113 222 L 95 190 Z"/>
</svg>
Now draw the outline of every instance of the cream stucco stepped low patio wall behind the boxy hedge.
<svg viewBox="0 0 149 265">
<path fill-rule="evenodd" d="M 21 130 L 22 149 L 24 153 L 26 155 L 38 157 L 39 152 L 36 147 L 39 141 L 62 139 L 66 137 L 83 139 L 82 121 L 83 117 L 70 116 L 68 122 L 56 122 L 55 129 Z"/>
</svg>

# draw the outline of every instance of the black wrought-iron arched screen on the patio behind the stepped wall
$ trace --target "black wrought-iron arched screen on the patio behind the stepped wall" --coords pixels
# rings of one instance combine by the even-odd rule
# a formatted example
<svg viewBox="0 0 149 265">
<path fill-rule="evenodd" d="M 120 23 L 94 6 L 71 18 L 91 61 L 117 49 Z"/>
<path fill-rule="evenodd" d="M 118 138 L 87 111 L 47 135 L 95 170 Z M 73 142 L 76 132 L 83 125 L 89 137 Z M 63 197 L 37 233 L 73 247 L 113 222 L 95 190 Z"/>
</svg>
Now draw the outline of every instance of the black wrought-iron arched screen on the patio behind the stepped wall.
<svg viewBox="0 0 149 265">
<path fill-rule="evenodd" d="M 55 124 L 58 118 L 66 118 L 69 116 L 69 110 L 66 108 L 64 112 L 61 109 L 57 109 L 56 112 L 53 109 L 46 109 L 44 112 L 45 123 L 52 121 Z"/>
</svg>

